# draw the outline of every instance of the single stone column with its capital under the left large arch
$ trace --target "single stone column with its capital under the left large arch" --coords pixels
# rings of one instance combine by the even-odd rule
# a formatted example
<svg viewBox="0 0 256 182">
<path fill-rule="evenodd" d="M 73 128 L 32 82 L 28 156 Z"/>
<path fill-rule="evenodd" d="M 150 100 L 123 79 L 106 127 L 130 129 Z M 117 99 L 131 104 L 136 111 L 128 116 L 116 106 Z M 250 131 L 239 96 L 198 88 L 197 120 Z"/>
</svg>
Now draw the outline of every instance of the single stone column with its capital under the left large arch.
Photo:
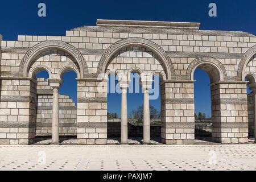
<svg viewBox="0 0 256 182">
<path fill-rule="evenodd" d="M 49 80 L 50 86 L 53 88 L 52 101 L 52 143 L 59 144 L 59 88 L 63 83 L 62 80 Z"/>
</svg>

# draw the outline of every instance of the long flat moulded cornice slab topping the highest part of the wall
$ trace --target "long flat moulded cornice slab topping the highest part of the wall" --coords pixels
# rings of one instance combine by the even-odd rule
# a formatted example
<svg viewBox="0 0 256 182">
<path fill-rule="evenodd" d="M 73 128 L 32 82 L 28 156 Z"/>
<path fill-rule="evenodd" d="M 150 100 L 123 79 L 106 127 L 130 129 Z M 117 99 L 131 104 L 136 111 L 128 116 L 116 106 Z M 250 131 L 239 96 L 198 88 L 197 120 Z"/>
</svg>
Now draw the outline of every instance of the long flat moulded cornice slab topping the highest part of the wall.
<svg viewBox="0 0 256 182">
<path fill-rule="evenodd" d="M 200 23 L 98 19 L 97 20 L 97 26 L 107 26 L 107 27 L 148 27 L 148 28 L 189 28 L 189 29 L 195 28 L 195 29 L 199 29 Z"/>
</svg>

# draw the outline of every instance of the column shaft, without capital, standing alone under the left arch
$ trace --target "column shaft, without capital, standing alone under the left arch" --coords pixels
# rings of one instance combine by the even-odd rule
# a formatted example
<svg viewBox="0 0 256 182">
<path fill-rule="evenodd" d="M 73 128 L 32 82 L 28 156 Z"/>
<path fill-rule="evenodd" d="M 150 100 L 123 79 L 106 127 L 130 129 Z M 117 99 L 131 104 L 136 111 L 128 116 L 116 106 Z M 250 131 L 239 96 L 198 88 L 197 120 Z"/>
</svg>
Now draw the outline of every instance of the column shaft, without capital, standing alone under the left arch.
<svg viewBox="0 0 256 182">
<path fill-rule="evenodd" d="M 59 143 L 59 89 L 53 88 L 52 101 L 52 144 Z"/>
</svg>

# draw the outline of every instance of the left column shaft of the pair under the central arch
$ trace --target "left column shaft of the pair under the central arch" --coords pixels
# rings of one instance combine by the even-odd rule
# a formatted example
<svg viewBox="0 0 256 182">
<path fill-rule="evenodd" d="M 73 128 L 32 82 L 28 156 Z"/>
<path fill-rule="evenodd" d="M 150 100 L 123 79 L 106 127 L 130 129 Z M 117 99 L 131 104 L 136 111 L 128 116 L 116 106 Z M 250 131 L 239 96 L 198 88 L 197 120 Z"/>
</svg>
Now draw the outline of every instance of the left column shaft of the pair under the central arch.
<svg viewBox="0 0 256 182">
<path fill-rule="evenodd" d="M 128 126 L 127 126 L 127 89 L 122 89 L 121 105 L 121 143 L 128 143 Z"/>
</svg>

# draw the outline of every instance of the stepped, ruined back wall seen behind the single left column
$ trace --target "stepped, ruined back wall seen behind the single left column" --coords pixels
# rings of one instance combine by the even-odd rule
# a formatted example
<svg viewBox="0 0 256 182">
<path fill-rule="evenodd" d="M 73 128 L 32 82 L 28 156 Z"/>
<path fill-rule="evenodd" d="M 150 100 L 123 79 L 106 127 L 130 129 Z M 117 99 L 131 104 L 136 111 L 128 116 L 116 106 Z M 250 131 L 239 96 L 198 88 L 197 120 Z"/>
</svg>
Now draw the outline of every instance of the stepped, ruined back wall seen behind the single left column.
<svg viewBox="0 0 256 182">
<path fill-rule="evenodd" d="M 36 136 L 51 136 L 52 89 L 44 78 L 37 81 Z M 77 107 L 70 96 L 59 95 L 59 128 L 60 136 L 77 135 Z"/>
</svg>

